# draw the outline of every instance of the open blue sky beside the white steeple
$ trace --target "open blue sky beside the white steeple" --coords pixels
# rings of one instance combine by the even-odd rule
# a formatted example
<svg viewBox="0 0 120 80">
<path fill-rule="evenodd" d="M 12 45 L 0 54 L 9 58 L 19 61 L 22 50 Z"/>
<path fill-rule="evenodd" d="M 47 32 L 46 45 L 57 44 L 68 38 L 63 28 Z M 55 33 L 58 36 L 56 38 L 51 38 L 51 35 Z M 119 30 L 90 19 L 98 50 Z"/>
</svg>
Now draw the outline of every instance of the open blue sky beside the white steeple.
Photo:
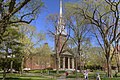
<svg viewBox="0 0 120 80">
<path fill-rule="evenodd" d="M 47 33 L 50 26 L 46 22 L 46 17 L 49 14 L 59 13 L 59 0 L 42 0 L 44 2 L 45 8 L 41 10 L 38 18 L 32 22 L 32 25 L 36 26 L 38 32 Z M 65 3 L 68 0 L 64 0 Z M 70 0 L 69 0 L 70 1 Z M 48 35 L 46 36 L 46 41 L 49 46 L 54 47 L 54 41 Z"/>
</svg>

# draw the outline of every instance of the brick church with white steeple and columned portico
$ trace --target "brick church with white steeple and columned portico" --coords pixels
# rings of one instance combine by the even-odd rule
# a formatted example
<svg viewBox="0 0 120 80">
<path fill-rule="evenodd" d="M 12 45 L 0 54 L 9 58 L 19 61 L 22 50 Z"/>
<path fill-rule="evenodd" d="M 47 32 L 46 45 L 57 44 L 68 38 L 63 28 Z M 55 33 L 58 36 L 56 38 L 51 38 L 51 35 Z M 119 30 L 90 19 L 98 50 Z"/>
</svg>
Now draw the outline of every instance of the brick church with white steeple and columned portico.
<svg viewBox="0 0 120 80">
<path fill-rule="evenodd" d="M 55 33 L 55 44 L 56 41 L 58 42 L 58 46 L 55 48 L 59 52 L 63 46 L 64 41 L 66 40 L 66 30 L 65 30 L 65 23 L 62 15 L 62 0 L 60 0 L 60 16 L 58 20 L 58 27 Z M 57 37 L 56 37 L 57 36 Z M 59 36 L 59 39 L 58 39 Z M 47 45 L 47 44 L 45 44 Z M 74 70 L 75 69 L 75 59 L 74 55 L 70 50 L 66 49 L 66 45 L 62 51 L 59 54 L 58 57 L 58 65 L 59 69 L 61 70 Z M 33 69 L 45 69 L 45 68 L 52 68 L 56 69 L 56 53 L 52 52 L 50 59 L 47 62 L 44 62 L 43 64 L 38 64 L 39 57 L 37 55 L 32 56 L 31 58 L 27 59 L 25 61 L 25 69 L 27 70 L 33 70 Z"/>
</svg>

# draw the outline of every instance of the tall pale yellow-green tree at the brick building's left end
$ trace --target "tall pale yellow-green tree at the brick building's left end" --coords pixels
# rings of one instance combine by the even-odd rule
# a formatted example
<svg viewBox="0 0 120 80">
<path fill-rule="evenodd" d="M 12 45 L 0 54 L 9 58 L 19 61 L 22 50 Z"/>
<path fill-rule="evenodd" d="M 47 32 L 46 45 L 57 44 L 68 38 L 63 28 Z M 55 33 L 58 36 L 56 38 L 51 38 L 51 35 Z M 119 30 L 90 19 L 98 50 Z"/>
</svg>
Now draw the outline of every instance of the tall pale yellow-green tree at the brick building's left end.
<svg viewBox="0 0 120 80">
<path fill-rule="evenodd" d="M 37 50 L 35 49 L 35 47 L 39 46 L 40 43 L 45 40 L 45 34 L 42 32 L 37 32 L 36 28 L 32 25 L 21 24 L 19 26 L 19 31 L 20 33 L 22 33 L 20 41 L 24 45 L 24 47 L 22 48 L 22 73 L 24 62 L 26 62 L 27 59 L 36 55 Z"/>
</svg>

